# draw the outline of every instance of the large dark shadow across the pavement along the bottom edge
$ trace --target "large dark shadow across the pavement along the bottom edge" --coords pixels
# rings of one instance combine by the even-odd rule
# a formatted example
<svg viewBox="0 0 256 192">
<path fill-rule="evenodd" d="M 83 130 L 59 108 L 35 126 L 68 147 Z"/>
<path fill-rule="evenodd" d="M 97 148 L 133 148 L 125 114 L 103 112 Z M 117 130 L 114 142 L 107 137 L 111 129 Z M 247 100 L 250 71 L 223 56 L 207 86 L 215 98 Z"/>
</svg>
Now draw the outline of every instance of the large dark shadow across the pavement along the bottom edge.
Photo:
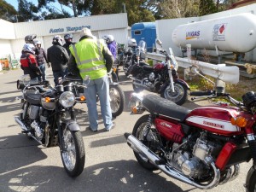
<svg viewBox="0 0 256 192">
<path fill-rule="evenodd" d="M 62 167 L 30 166 L 4 173 L 0 178 L 0 191 L 183 192 L 159 174 L 159 171 L 144 170 L 134 160 L 85 165 L 84 172 L 76 178 L 68 177 Z"/>
</svg>

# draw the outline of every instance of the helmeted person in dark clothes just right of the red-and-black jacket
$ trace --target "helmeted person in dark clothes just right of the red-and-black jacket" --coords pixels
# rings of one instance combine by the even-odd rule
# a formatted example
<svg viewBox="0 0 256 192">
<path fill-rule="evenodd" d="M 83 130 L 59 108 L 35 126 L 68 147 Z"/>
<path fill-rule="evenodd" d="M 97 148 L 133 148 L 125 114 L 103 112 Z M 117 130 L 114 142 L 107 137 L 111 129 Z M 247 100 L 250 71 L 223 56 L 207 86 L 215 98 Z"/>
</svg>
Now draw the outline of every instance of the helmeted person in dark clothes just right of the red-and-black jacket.
<svg viewBox="0 0 256 192">
<path fill-rule="evenodd" d="M 36 43 L 37 45 L 37 49 L 36 49 L 36 57 L 37 57 L 37 61 L 38 61 L 38 67 L 40 68 L 41 72 L 42 72 L 42 77 L 38 76 L 38 80 L 39 81 L 45 81 L 46 78 L 46 73 L 45 73 L 45 61 L 48 64 L 49 67 L 49 62 L 47 61 L 47 55 L 45 53 L 45 50 L 41 47 L 41 42 L 37 41 Z"/>
</svg>

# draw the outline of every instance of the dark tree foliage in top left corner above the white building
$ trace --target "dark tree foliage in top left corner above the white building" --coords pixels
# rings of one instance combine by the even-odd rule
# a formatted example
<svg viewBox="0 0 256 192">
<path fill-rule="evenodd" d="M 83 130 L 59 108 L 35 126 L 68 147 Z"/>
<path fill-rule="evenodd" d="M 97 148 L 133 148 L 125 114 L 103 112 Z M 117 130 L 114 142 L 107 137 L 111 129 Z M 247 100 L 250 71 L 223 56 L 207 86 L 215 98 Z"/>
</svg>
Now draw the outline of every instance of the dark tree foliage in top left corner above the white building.
<svg viewBox="0 0 256 192">
<path fill-rule="evenodd" d="M 11 4 L 0 0 L 0 18 L 10 22 L 15 22 L 15 15 L 17 15 L 15 8 Z"/>
</svg>

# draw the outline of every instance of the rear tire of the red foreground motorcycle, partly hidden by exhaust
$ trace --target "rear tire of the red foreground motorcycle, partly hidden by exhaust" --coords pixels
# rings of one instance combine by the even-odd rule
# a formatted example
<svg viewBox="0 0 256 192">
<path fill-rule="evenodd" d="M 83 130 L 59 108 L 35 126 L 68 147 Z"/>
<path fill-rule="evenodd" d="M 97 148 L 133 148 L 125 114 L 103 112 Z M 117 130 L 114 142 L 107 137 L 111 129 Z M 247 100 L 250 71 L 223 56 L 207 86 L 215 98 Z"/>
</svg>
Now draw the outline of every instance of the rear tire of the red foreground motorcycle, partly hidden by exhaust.
<svg viewBox="0 0 256 192">
<path fill-rule="evenodd" d="M 136 124 L 133 127 L 132 135 L 134 137 L 136 137 L 138 140 L 140 140 L 149 149 L 151 149 L 150 142 L 143 141 L 144 133 L 145 133 L 144 129 L 147 127 L 148 117 L 149 117 L 149 114 L 145 114 L 140 119 L 137 120 Z M 148 171 L 158 170 L 158 168 L 156 166 L 154 166 L 152 163 L 150 163 L 148 160 L 144 160 L 140 154 L 137 154 L 137 152 L 135 152 L 135 151 L 133 151 L 133 153 L 137 159 L 137 162 L 141 166 L 143 166 L 145 169 L 147 169 Z"/>
</svg>

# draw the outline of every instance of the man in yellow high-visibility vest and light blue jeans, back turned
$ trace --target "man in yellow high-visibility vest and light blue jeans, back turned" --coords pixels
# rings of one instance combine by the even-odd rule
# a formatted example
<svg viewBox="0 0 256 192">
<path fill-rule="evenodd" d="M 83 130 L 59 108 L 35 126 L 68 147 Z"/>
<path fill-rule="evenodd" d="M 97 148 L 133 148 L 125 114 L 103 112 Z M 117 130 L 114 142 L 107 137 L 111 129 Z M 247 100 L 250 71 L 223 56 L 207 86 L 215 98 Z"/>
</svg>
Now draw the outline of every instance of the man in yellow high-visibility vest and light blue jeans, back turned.
<svg viewBox="0 0 256 192">
<path fill-rule="evenodd" d="M 75 73 L 79 69 L 82 79 L 90 76 L 90 83 L 84 89 L 89 114 L 90 130 L 98 129 L 98 113 L 96 109 L 96 94 L 101 103 L 102 119 L 106 131 L 110 131 L 114 124 L 109 102 L 108 72 L 113 65 L 113 55 L 102 39 L 96 39 L 90 29 L 83 28 L 80 32 L 79 43 L 69 47 L 71 55 L 68 61 L 68 72 Z M 84 82 L 86 83 L 86 82 Z"/>
</svg>

